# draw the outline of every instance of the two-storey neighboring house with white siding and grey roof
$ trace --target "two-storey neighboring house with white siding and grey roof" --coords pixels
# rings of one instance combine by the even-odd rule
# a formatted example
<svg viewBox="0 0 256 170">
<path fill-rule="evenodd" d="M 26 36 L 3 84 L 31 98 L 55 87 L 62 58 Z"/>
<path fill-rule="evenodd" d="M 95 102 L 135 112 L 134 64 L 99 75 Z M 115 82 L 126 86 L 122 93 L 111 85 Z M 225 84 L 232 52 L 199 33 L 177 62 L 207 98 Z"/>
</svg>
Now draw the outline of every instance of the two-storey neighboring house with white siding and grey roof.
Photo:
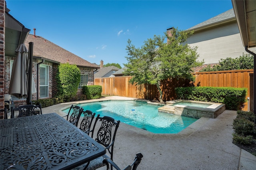
<svg viewBox="0 0 256 170">
<path fill-rule="evenodd" d="M 198 61 L 204 61 L 199 71 L 207 65 L 215 65 L 220 59 L 236 58 L 247 53 L 243 47 L 234 10 L 230 9 L 209 20 L 189 28 L 194 34 L 184 43 L 197 46 Z M 167 32 L 171 28 L 167 29 Z M 255 51 L 255 48 L 252 50 Z"/>
</svg>

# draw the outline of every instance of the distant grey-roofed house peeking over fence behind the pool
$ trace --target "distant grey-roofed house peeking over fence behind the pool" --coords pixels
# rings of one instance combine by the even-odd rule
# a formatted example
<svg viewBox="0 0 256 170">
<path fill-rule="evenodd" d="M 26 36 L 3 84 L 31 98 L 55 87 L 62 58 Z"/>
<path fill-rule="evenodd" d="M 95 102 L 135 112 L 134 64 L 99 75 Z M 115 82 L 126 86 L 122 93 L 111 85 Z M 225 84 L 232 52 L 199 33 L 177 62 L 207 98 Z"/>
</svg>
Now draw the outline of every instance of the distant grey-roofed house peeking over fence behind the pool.
<svg viewBox="0 0 256 170">
<path fill-rule="evenodd" d="M 114 77 L 112 74 L 118 70 L 116 66 L 103 67 L 103 61 L 100 60 L 100 68 L 94 71 L 94 78 Z"/>
</svg>

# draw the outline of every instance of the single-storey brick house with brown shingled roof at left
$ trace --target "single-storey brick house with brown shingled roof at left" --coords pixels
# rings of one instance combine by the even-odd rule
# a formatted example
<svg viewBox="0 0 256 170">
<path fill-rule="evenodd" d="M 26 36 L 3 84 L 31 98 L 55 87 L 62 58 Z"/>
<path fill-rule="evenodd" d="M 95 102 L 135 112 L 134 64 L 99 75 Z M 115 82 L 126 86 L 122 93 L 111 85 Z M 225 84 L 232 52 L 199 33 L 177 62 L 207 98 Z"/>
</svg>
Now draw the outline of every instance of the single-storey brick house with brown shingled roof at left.
<svg viewBox="0 0 256 170">
<path fill-rule="evenodd" d="M 82 86 L 94 84 L 94 69 L 99 68 L 98 65 L 92 64 L 81 57 L 63 49 L 62 47 L 40 37 L 29 34 L 26 38 L 25 45 L 29 49 L 29 42 L 33 42 L 33 69 L 32 74 L 36 85 L 37 93 L 32 95 L 32 100 L 47 99 L 54 97 L 57 92 L 56 73 L 60 63 L 75 64 L 80 69 L 81 81 L 78 87 L 78 97 L 82 95 Z M 14 50 L 15 51 L 15 50 Z M 12 64 L 15 59 L 13 56 L 6 56 L 6 77 L 10 77 Z M 6 79 L 6 91 L 10 78 Z M 22 104 L 25 99 L 13 98 L 14 103 Z"/>
</svg>

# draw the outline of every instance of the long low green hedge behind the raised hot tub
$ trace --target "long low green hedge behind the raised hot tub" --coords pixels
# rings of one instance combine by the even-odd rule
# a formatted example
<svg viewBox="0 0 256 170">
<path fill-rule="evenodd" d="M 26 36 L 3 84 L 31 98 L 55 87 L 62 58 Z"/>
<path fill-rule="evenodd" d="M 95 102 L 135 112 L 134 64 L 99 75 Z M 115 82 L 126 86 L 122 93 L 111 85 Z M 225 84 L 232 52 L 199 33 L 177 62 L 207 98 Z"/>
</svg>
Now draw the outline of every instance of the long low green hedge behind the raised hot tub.
<svg viewBox="0 0 256 170">
<path fill-rule="evenodd" d="M 178 99 L 209 101 L 226 104 L 228 110 L 241 110 L 246 102 L 246 88 L 234 87 L 177 87 Z"/>
</svg>

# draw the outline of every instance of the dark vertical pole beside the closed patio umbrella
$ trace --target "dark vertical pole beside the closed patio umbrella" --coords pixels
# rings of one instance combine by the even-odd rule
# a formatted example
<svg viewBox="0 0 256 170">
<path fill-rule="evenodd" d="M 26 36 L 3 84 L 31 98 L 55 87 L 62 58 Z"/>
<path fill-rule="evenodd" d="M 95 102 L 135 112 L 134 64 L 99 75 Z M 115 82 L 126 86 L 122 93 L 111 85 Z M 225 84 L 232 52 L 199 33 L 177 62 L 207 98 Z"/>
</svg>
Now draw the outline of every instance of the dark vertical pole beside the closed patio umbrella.
<svg viewBox="0 0 256 170">
<path fill-rule="evenodd" d="M 28 58 L 29 58 L 29 72 L 28 72 L 28 96 L 27 96 L 27 105 L 30 105 L 32 100 L 32 67 L 33 67 L 33 42 L 28 43 Z"/>
</svg>

